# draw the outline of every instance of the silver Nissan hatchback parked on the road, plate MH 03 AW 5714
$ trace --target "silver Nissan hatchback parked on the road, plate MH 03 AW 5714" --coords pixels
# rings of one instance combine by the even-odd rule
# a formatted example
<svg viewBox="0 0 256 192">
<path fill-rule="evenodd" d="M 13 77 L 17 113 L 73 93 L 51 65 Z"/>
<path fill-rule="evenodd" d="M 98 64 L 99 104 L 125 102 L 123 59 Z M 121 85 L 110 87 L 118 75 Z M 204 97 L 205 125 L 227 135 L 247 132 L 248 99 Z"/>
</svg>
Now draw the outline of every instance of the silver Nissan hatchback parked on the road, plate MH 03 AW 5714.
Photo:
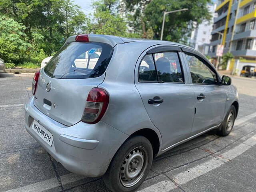
<svg viewBox="0 0 256 192">
<path fill-rule="evenodd" d="M 117 36 L 68 38 L 32 93 L 26 130 L 66 169 L 103 176 L 113 192 L 137 188 L 153 157 L 179 144 L 213 129 L 228 135 L 238 114 L 231 79 L 196 50 Z"/>
</svg>

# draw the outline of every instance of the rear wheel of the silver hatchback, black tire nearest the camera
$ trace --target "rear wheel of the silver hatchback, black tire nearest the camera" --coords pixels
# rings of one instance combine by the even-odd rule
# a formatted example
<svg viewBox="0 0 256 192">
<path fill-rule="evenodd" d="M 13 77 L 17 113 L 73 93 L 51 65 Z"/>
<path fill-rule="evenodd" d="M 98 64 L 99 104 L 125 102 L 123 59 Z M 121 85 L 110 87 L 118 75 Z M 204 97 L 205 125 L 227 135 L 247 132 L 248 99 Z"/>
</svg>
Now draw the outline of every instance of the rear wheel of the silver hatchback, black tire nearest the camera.
<svg viewBox="0 0 256 192">
<path fill-rule="evenodd" d="M 138 159 L 135 156 L 138 156 Z M 142 157 L 143 160 L 141 160 L 140 157 Z M 127 163 L 125 163 L 126 160 Z M 138 160 L 141 161 L 139 162 Z M 126 140 L 124 144 L 122 144 L 122 146 L 114 155 L 107 172 L 103 176 L 104 183 L 112 192 L 132 191 L 140 186 L 140 184 L 145 180 L 148 172 L 150 171 L 152 160 L 153 149 L 150 141 L 147 138 L 145 138 L 144 136 L 133 136 L 131 138 L 128 138 L 128 140 Z M 129 171 L 126 172 L 126 168 L 128 170 L 128 167 L 131 164 L 132 166 L 134 166 L 134 163 L 136 164 L 135 167 L 133 167 L 132 170 L 130 168 Z M 140 168 L 137 168 L 137 165 L 140 166 Z M 134 178 L 134 185 L 127 187 L 124 185 L 127 184 L 129 181 L 124 180 L 124 178 L 127 176 L 124 174 L 130 173 L 130 171 L 131 173 L 139 172 L 139 174 Z"/>
</svg>

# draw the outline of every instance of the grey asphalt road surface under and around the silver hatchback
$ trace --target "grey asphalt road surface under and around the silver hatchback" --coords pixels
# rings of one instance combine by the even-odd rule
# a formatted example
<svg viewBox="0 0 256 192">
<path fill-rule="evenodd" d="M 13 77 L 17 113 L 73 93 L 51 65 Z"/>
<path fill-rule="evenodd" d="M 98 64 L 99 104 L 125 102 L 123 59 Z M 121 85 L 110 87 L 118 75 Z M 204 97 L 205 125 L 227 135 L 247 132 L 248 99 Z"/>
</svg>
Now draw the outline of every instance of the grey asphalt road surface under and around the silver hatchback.
<svg viewBox="0 0 256 192">
<path fill-rule="evenodd" d="M 25 130 L 33 74 L 0 74 L 0 191 L 106 192 L 58 164 Z M 154 159 L 141 192 L 256 191 L 256 80 L 232 78 L 240 110 L 232 133 L 208 132 Z"/>
</svg>

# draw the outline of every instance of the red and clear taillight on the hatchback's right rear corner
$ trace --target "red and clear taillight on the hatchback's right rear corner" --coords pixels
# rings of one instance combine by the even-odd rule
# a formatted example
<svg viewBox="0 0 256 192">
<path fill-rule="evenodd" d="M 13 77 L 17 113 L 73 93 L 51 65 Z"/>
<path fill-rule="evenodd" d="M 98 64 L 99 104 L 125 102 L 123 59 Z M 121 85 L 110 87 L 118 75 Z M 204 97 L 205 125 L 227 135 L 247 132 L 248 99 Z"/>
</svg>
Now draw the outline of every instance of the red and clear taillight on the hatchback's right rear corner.
<svg viewBox="0 0 256 192">
<path fill-rule="evenodd" d="M 86 100 L 82 122 L 98 123 L 108 108 L 108 101 L 108 93 L 104 89 L 92 88 Z"/>
</svg>

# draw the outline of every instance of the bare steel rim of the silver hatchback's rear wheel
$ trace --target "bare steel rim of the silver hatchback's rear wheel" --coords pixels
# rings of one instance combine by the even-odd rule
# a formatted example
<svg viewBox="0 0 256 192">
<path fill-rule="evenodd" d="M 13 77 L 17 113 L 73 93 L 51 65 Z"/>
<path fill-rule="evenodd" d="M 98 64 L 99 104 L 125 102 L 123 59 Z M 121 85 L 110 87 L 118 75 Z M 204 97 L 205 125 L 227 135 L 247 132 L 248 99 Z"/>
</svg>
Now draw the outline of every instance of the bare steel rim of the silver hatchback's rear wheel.
<svg viewBox="0 0 256 192">
<path fill-rule="evenodd" d="M 136 147 L 126 154 L 120 168 L 120 181 L 125 187 L 136 185 L 144 176 L 148 165 L 148 152 L 144 147 Z"/>
</svg>

